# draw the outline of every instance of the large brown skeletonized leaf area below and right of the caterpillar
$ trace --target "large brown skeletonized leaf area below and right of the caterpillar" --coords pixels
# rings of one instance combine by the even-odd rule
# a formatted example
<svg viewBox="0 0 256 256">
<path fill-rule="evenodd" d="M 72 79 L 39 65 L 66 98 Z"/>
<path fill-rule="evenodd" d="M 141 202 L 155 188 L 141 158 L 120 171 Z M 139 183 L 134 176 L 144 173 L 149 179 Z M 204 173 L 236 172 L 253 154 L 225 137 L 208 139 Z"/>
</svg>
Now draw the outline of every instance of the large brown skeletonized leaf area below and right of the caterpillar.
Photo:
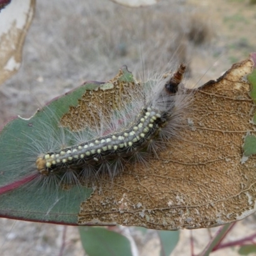
<svg viewBox="0 0 256 256">
<path fill-rule="evenodd" d="M 223 225 L 255 212 L 255 157 L 241 164 L 255 111 L 248 59 L 195 93 L 186 131 L 148 166 L 126 168 L 81 204 L 79 225 L 175 230 Z"/>
</svg>

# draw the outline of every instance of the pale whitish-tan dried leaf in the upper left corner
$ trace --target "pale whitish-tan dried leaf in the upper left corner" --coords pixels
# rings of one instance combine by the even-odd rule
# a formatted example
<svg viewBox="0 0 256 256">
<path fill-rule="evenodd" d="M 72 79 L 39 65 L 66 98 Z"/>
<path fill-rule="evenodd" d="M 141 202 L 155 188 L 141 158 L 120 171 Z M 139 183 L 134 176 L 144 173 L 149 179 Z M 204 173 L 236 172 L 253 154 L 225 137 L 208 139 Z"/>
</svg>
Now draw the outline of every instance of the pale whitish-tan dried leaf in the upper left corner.
<svg viewBox="0 0 256 256">
<path fill-rule="evenodd" d="M 20 67 L 22 47 L 33 19 L 35 0 L 13 0 L 0 13 L 0 84 Z"/>
</svg>

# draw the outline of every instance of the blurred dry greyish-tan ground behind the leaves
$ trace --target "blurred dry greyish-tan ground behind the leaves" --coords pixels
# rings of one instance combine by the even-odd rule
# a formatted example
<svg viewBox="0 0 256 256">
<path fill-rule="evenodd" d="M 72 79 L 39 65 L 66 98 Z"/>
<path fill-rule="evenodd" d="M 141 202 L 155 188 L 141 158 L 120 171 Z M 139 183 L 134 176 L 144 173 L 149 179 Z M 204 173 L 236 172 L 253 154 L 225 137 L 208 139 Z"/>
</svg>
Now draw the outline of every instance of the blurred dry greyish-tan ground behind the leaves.
<svg viewBox="0 0 256 256">
<path fill-rule="evenodd" d="M 11 116 L 29 117 L 52 98 L 84 81 L 108 81 L 122 65 L 140 79 L 188 66 L 190 84 L 217 79 L 256 51 L 256 6 L 246 0 L 161 0 L 127 8 L 107 0 L 38 0 L 23 49 L 22 67 L 0 87 L 0 126 Z M 255 229 L 240 221 L 237 239 Z M 63 226 L 0 219 L 1 255 L 60 255 Z M 239 230 L 239 231 L 237 231 Z M 61 255 L 84 255 L 76 227 L 67 227 Z M 195 252 L 211 230 L 194 230 Z M 190 255 L 189 230 L 180 232 L 172 255 Z M 138 237 L 138 241 L 140 237 Z M 140 255 L 157 255 L 154 233 L 139 241 Z M 146 245 L 145 245 L 146 244 Z M 236 248 L 212 255 L 238 255 Z"/>
</svg>

